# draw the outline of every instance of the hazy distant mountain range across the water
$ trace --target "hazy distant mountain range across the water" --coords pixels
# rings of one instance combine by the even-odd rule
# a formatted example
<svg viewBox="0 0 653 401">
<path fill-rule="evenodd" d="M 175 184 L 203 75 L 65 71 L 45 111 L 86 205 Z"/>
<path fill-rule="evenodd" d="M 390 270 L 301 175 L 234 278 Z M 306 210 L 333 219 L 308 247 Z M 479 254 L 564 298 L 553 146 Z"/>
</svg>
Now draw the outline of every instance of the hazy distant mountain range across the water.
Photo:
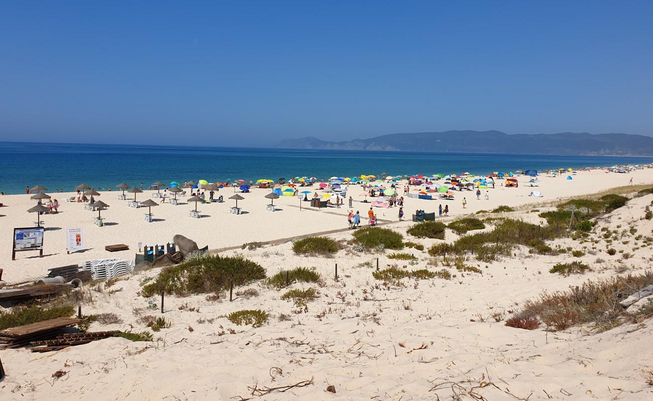
<svg viewBox="0 0 653 401">
<path fill-rule="evenodd" d="M 653 156 L 653 138 L 632 134 L 505 134 L 500 131 L 445 131 L 388 134 L 332 142 L 312 136 L 283 140 L 285 149 L 362 151 L 530 153 L 549 155 Z"/>
</svg>

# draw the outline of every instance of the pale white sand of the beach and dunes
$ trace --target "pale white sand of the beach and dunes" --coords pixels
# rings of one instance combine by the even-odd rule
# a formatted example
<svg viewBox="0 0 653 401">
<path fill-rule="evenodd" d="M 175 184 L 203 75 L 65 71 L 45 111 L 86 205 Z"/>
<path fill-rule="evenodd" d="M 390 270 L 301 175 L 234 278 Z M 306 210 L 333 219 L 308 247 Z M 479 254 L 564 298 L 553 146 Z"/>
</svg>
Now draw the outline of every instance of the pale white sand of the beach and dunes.
<svg viewBox="0 0 653 401">
<path fill-rule="evenodd" d="M 518 188 L 489 189 L 490 200 L 476 200 L 473 192 L 455 192 L 449 201 L 449 218 L 491 210 L 499 205 L 522 207 L 508 213 L 530 222 L 543 222 L 532 207 L 550 204 L 559 198 L 593 194 L 617 186 L 653 183 L 653 170 L 635 170 L 629 174 L 603 170 L 579 171 L 573 180 L 560 177 L 539 178 L 539 186 L 526 184 L 528 177 L 518 177 Z M 47 186 L 47 183 L 39 183 Z M 303 189 L 303 188 L 302 188 Z M 529 197 L 539 190 L 544 198 Z M 260 263 L 274 275 L 297 266 L 315 267 L 325 278 L 319 288 L 321 297 L 306 306 L 294 306 L 280 299 L 281 291 L 252 284 L 259 295 L 208 301 L 206 295 L 169 296 L 165 301 L 165 318 L 172 327 L 154 333 L 155 342 L 130 342 L 108 338 L 50 353 L 31 353 L 28 349 L 0 351 L 7 378 L 0 383 L 2 400 L 650 400 L 653 387 L 646 384 L 646 372 L 653 370 L 653 320 L 622 325 L 600 334 L 588 335 L 585 329 L 548 333 L 543 329 L 526 331 L 505 326 L 511 310 L 543 291 L 566 290 L 588 279 L 615 275 L 618 265 L 637 273 L 650 268 L 651 248 L 631 251 L 632 244 L 615 243 L 616 250 L 631 252 L 609 256 L 599 250 L 581 260 L 592 267 L 584 275 L 550 274 L 552 265 L 569 261 L 569 254 L 542 256 L 520 249 L 513 258 L 492 263 L 473 263 L 483 271 L 456 273 L 451 280 L 406 280 L 406 286 L 385 286 L 372 278 L 375 263 L 381 268 L 394 263 L 386 254 L 356 253 L 341 250 L 334 258 L 297 256 L 289 241 L 276 241 L 340 230 L 328 234 L 333 239 L 351 239 L 347 230 L 347 202 L 341 209 L 326 211 L 304 207 L 294 197 L 275 200 L 276 212 L 266 211 L 269 190 L 254 188 L 239 201 L 247 213 L 232 215 L 229 207 L 232 188 L 223 189 L 225 203 L 200 204 L 204 217 L 191 218 L 194 205 L 164 203 L 152 209 L 155 222 L 144 220 L 147 209 L 127 207 L 118 192 L 102 192 L 96 197 L 110 207 L 102 212 L 104 227 L 93 224 L 97 212 L 84 210 L 80 203 L 65 203 L 73 194 L 50 194 L 61 203 L 58 215 L 42 216 L 45 221 L 44 257 L 37 252 L 19 252 L 11 260 L 8 242 L 14 227 L 28 227 L 35 220 L 26 210 L 35 201 L 28 195 L 3 196 L 0 201 L 0 235 L 7 246 L 0 249 L 3 280 L 16 282 L 46 274 L 48 268 L 81 263 L 107 257 L 133 258 L 137 243 L 154 244 L 171 241 L 182 234 L 210 249 L 224 250 L 225 255 L 242 254 Z M 369 203 L 358 196 L 362 190 L 352 188 L 354 210 L 366 216 Z M 349 195 L 348 194 L 348 195 Z M 137 194 L 138 200 L 150 193 Z M 468 201 L 462 209 L 462 196 Z M 131 195 L 133 197 L 133 194 Z M 309 196 L 310 198 L 310 196 Z M 182 198 L 183 199 L 183 198 Z M 159 201 L 159 200 L 156 200 Z M 644 220 L 646 205 L 653 195 L 629 201 L 628 205 L 605 216 L 599 227 L 635 228 L 650 236 L 652 220 Z M 407 220 L 415 209 L 436 211 L 439 200 L 405 198 Z M 306 203 L 304 203 L 306 204 Z M 532 207 L 530 207 L 532 205 Z M 385 227 L 428 248 L 440 240 L 414 239 L 406 234 L 410 221 L 397 222 L 398 208 L 378 209 L 381 220 L 391 220 Z M 362 225 L 366 225 L 366 219 Z M 84 230 L 86 251 L 67 254 L 65 228 Z M 447 241 L 457 236 L 447 232 Z M 254 241 L 276 241 L 255 250 L 240 245 Z M 564 246 L 582 248 L 571 239 L 556 240 Z M 105 245 L 124 243 L 131 250 L 109 253 Z M 417 263 L 411 269 L 442 269 L 429 265 L 426 251 L 415 252 Z M 601 258 L 603 261 L 597 261 Z M 334 280 L 338 263 L 339 280 Z M 112 290 L 95 291 L 93 302 L 84 305 L 84 314 L 112 312 L 123 323 L 100 325 L 91 330 L 142 331 L 140 316 L 160 316 L 148 301 L 156 297 L 138 295 L 140 282 L 155 277 L 161 269 L 139 272 L 128 280 L 114 284 Z M 452 272 L 454 273 L 454 272 Z M 293 288 L 308 288 L 294 284 Z M 246 288 L 238 288 L 246 290 Z M 196 308 L 190 311 L 189 308 Z M 237 326 L 221 317 L 236 310 L 262 309 L 270 314 L 263 327 Z M 502 316 L 500 321 L 493 314 Z M 289 318 L 279 319 L 287 315 Z M 61 379 L 52 378 L 57 370 L 67 372 Z M 306 387 L 263 396 L 253 387 L 280 387 L 310 381 Z M 334 385 L 336 393 L 325 391 Z M 456 398 L 457 393 L 465 394 Z"/>
</svg>

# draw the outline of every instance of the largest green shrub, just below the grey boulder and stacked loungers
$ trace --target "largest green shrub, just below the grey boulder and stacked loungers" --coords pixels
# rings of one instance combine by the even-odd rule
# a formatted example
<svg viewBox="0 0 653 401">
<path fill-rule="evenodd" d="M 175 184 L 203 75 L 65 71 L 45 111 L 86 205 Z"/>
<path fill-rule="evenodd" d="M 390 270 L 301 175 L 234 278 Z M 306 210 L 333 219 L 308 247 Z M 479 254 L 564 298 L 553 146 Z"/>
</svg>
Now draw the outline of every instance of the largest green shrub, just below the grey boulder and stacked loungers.
<svg viewBox="0 0 653 401">
<path fill-rule="evenodd" d="M 230 282 L 243 286 L 265 278 L 265 269 L 242 256 L 202 254 L 176 266 L 166 267 L 140 291 L 144 297 L 167 294 L 210 293 L 227 290 Z"/>
</svg>

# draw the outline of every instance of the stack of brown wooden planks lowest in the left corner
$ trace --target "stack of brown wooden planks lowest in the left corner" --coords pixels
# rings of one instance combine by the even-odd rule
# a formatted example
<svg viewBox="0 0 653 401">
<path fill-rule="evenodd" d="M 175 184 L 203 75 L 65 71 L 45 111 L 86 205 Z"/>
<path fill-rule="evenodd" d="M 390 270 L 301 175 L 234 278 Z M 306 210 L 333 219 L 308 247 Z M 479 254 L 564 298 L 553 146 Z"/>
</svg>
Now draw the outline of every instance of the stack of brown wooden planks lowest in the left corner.
<svg viewBox="0 0 653 401">
<path fill-rule="evenodd" d="M 56 318 L 5 329 L 0 331 L 0 349 L 23 348 L 35 341 L 54 338 L 61 334 L 64 327 L 76 325 L 81 320 Z"/>
</svg>

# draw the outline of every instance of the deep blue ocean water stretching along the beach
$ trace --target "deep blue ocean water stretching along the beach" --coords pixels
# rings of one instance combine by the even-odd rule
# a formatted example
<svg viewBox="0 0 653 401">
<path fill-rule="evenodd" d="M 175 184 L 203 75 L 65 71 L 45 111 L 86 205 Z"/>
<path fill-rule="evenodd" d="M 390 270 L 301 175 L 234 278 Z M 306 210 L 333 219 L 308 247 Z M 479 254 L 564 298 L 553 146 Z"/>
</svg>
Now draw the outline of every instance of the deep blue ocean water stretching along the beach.
<svg viewBox="0 0 653 401">
<path fill-rule="evenodd" d="M 651 163 L 653 158 L 625 156 L 511 155 L 496 153 L 411 153 L 325 151 L 249 147 L 95 145 L 0 142 L 0 191 L 22 194 L 25 186 L 71 192 L 86 183 L 103 190 L 125 182 L 209 182 L 227 179 L 277 180 L 281 177 L 351 177 L 361 174 L 482 174 L 550 168 L 582 168 Z"/>
</svg>

